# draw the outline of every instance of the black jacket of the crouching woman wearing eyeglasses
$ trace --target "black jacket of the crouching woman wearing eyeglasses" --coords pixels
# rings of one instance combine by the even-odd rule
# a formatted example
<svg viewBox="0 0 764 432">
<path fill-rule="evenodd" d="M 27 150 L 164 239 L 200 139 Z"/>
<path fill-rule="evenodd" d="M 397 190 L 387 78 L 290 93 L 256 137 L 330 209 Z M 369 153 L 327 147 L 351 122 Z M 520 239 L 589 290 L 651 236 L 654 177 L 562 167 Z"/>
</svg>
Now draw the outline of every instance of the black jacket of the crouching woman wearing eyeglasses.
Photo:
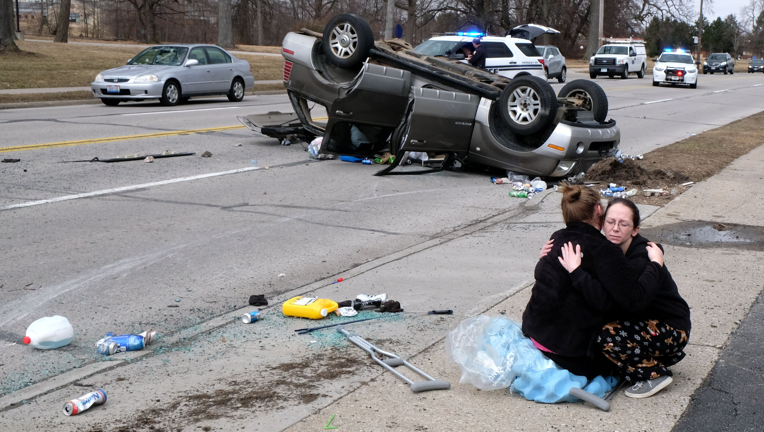
<svg viewBox="0 0 764 432">
<path fill-rule="evenodd" d="M 635 235 L 626 250 L 626 259 L 636 271 L 644 271 L 650 262 L 647 256 L 647 242 L 642 235 Z M 583 268 L 571 273 L 573 286 L 584 294 L 589 304 L 605 314 L 608 321 L 636 318 L 639 320 L 659 320 L 678 330 L 689 333 L 690 307 L 679 295 L 678 287 L 665 265 L 661 268 L 661 286 L 654 297 L 645 296 L 630 304 L 620 304 L 607 294 L 605 288 Z M 652 291 L 650 291 L 652 293 Z"/>
</svg>

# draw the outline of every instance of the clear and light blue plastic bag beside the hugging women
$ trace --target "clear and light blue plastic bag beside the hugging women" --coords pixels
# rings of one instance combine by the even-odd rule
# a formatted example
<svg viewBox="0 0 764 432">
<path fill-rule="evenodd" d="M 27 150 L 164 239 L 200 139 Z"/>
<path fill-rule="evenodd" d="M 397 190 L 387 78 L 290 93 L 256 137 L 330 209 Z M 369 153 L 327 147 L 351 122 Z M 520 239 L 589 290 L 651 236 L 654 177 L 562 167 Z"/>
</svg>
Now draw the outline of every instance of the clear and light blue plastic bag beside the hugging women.
<svg viewBox="0 0 764 432">
<path fill-rule="evenodd" d="M 533 345 L 520 324 L 498 315 L 468 318 L 445 338 L 446 355 L 461 368 L 460 383 L 481 390 L 510 388 L 529 401 L 556 403 L 578 401 L 571 388 L 603 397 L 614 378 L 598 376 L 588 382 L 548 359 Z"/>
</svg>

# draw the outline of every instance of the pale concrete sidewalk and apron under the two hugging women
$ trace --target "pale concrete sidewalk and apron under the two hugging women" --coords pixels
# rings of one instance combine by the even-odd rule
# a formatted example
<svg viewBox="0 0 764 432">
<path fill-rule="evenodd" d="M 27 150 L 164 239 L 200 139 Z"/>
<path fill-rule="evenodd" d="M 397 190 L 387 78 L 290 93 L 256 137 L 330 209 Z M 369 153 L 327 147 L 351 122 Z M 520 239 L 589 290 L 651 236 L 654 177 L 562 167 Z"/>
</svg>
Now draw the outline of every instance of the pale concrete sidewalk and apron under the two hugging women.
<svg viewBox="0 0 764 432">
<path fill-rule="evenodd" d="M 645 234 L 664 242 L 666 264 L 693 313 L 688 357 L 672 367 L 672 385 L 652 398 L 618 394 L 611 399 L 613 408 L 603 412 L 580 403 L 536 404 L 508 391 L 478 391 L 458 384 L 459 369 L 449 364 L 442 339 L 465 317 L 480 313 L 506 313 L 520 320 L 539 248 L 563 226 L 561 196 L 550 190 L 520 202 L 515 210 L 497 209 L 486 219 L 269 298 L 264 319 L 256 323 L 238 320 L 240 313 L 254 309 L 246 307 L 159 339 L 153 351 L 117 354 L 6 395 L 0 398 L 0 410 L 5 411 L 0 428 L 133 430 L 151 425 L 168 430 L 209 426 L 302 432 L 322 430 L 336 414 L 332 426 L 354 431 L 668 432 L 762 291 L 764 252 L 758 243 L 755 248 L 739 248 L 735 242 L 688 247 L 678 241 L 685 237 L 672 237 L 664 228 L 689 219 L 730 224 L 756 220 L 752 215 L 764 210 L 764 180 L 758 174 L 762 159 L 764 147 L 759 147 L 665 208 L 641 207 Z M 729 192 L 736 181 L 746 184 L 745 195 Z M 505 187 L 496 190 L 506 197 Z M 660 239 L 653 232 L 660 233 Z M 345 281 L 332 284 L 336 277 Z M 280 313 L 281 302 L 295 295 L 344 300 L 380 292 L 399 300 L 406 313 L 351 324 L 348 330 L 397 352 L 435 378 L 447 379 L 450 390 L 412 393 L 334 329 L 293 332 L 341 321 L 337 317 L 312 324 Z M 453 309 L 455 315 L 426 314 L 433 309 Z M 358 318 L 377 316 L 362 312 Z M 7 349 L 23 352 L 15 346 Z M 755 380 L 761 384 L 756 371 L 748 371 L 746 378 L 750 385 L 756 385 Z M 108 402 L 63 418 L 63 401 L 90 391 L 73 382 L 105 388 Z"/>
</svg>

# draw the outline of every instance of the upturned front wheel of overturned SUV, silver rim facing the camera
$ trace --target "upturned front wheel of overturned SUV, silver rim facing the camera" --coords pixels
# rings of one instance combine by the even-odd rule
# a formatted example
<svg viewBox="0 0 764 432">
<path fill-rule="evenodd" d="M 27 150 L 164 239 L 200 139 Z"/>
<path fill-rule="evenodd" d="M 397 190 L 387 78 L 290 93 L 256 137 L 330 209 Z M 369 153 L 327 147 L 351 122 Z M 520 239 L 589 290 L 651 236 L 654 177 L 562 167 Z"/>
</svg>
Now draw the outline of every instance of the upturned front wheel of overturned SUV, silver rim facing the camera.
<svg viewBox="0 0 764 432">
<path fill-rule="evenodd" d="M 596 85 L 596 84 L 595 84 Z M 514 78 L 499 96 L 501 119 L 517 135 L 532 135 L 548 127 L 557 115 L 555 90 L 538 76 Z"/>
</svg>

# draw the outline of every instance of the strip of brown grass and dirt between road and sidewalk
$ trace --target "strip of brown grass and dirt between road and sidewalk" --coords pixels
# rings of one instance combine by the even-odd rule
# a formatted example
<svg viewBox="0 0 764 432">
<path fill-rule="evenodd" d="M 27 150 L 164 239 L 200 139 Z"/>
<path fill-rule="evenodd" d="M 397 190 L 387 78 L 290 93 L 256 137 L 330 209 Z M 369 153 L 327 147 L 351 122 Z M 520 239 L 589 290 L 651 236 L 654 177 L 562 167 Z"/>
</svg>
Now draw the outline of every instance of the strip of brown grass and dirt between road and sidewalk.
<svg viewBox="0 0 764 432">
<path fill-rule="evenodd" d="M 639 190 L 633 197 L 636 203 L 662 206 L 691 189 L 681 184 L 701 182 L 762 144 L 764 112 L 759 112 L 650 151 L 642 160 L 604 159 L 591 167 L 584 182 L 600 189 L 608 183 L 635 188 Z M 669 190 L 669 195 L 645 197 L 643 189 Z"/>
</svg>

